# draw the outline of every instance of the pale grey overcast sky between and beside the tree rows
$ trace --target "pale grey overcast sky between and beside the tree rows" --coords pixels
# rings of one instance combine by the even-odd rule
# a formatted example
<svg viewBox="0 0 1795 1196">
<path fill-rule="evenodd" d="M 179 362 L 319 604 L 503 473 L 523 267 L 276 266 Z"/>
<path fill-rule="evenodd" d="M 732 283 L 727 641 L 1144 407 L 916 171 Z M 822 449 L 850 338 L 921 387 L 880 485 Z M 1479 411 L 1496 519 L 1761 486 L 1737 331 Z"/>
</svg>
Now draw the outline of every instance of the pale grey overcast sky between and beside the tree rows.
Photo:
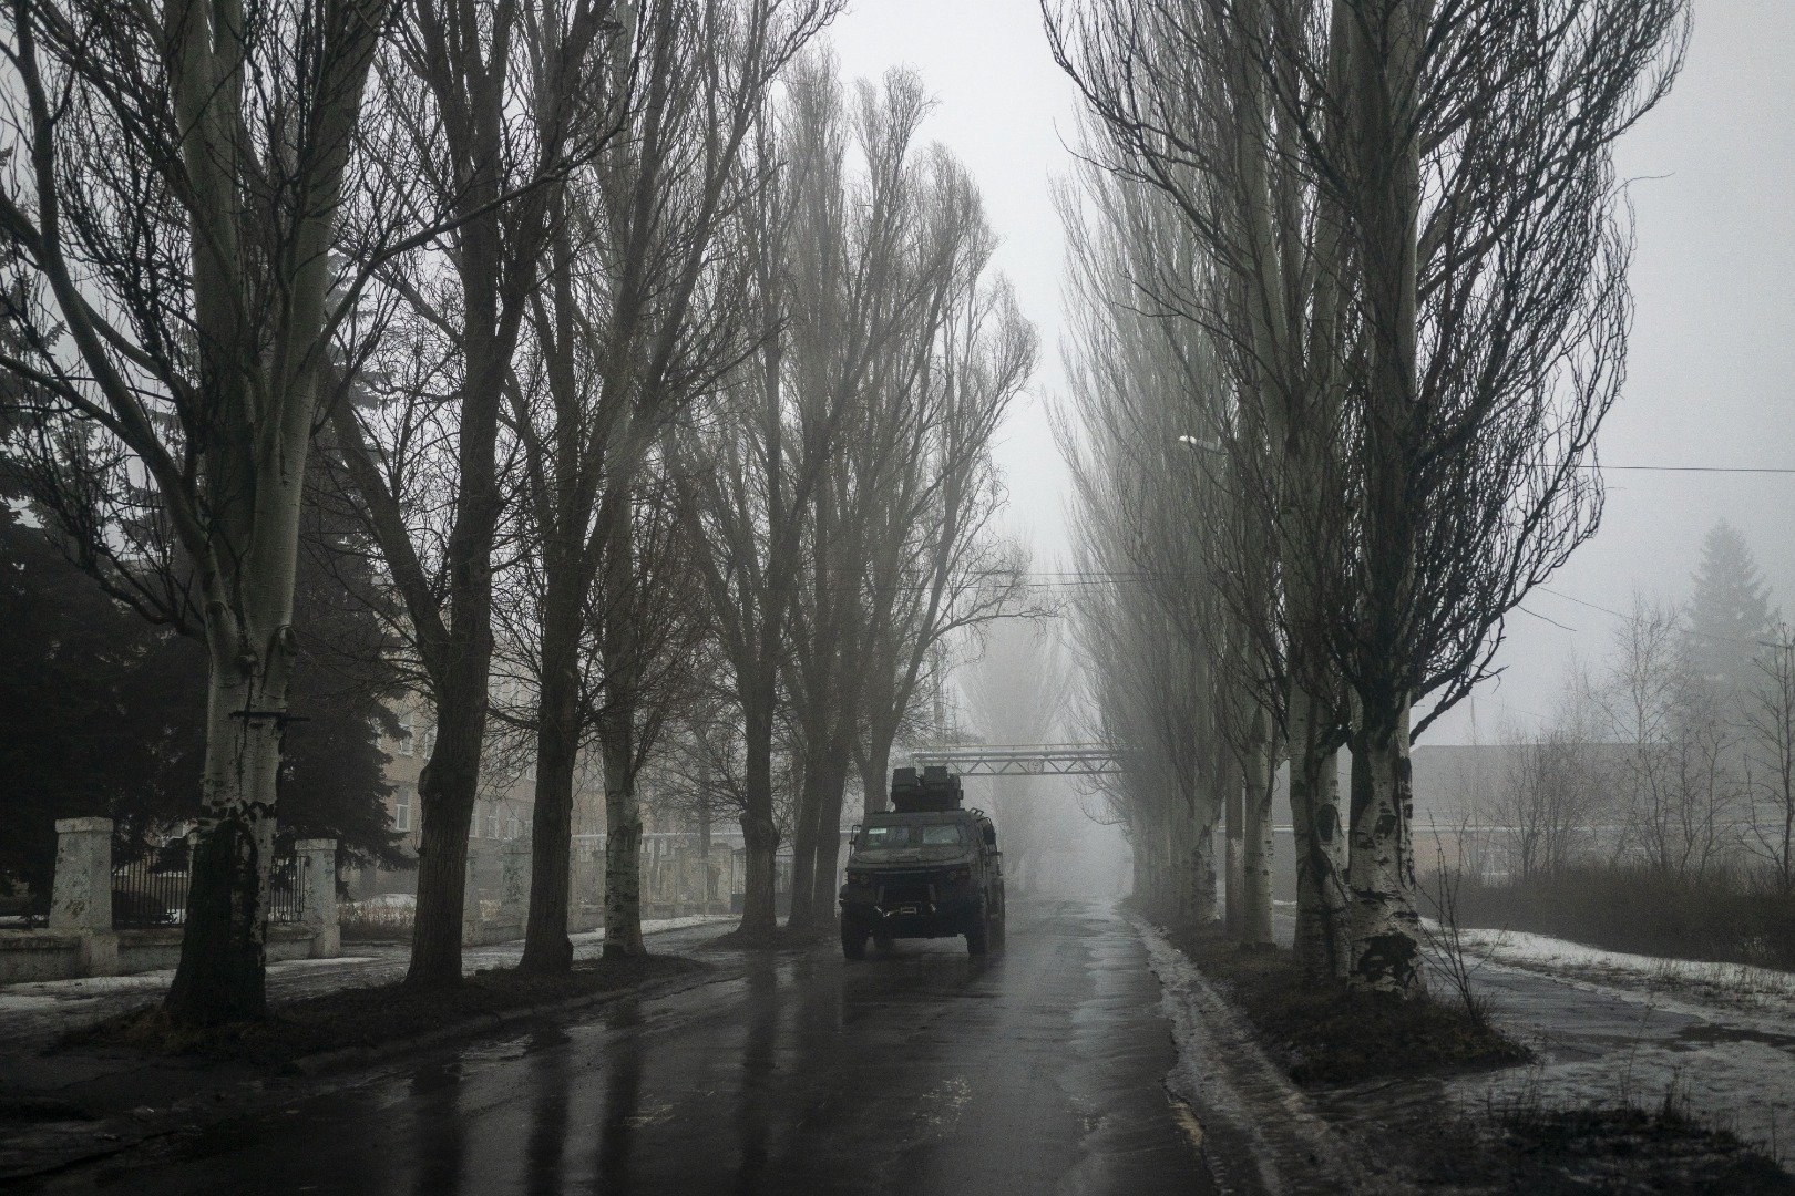
<svg viewBox="0 0 1795 1196">
<path fill-rule="evenodd" d="M 1621 143 L 1637 249 L 1626 393 L 1603 429 L 1614 466 L 1795 468 L 1795 0 L 1693 0 L 1694 38 L 1671 97 Z M 860 0 L 831 32 L 844 75 L 921 72 L 928 134 L 978 179 L 1000 267 L 1041 330 L 1029 394 L 1000 464 L 1036 568 L 1070 568 L 1066 470 L 1043 402 L 1061 387 L 1061 235 L 1048 181 L 1066 174 L 1075 97 L 1054 66 L 1036 0 Z M 1517 613 L 1479 690 L 1479 737 L 1531 724 L 1565 660 L 1599 663 L 1635 590 L 1680 599 L 1718 518 L 1745 534 L 1775 602 L 1795 615 L 1795 473 L 1608 473 L 1598 536 Z M 1587 604 L 1580 604 L 1587 602 Z M 1547 622 L 1551 620 L 1551 622 Z M 1563 624 L 1563 628 L 1554 626 Z M 1565 629 L 1569 628 L 1569 629 Z M 1468 710 L 1431 742 L 1463 742 Z"/>
</svg>

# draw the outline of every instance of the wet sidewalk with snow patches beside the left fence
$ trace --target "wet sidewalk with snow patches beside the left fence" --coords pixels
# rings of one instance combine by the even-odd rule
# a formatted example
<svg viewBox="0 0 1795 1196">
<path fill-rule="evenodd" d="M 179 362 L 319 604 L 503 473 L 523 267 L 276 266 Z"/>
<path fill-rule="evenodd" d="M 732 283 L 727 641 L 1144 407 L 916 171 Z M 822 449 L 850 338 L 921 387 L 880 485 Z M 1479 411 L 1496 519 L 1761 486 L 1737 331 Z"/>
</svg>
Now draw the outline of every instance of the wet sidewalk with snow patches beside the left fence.
<svg viewBox="0 0 1795 1196">
<path fill-rule="evenodd" d="M 729 923 L 732 916 L 661 918 L 644 922 L 643 932 L 722 931 Z M 713 936 L 680 938 L 700 947 Z M 574 934 L 574 958 L 596 958 L 603 941 L 603 931 Z M 382 984 L 406 974 L 404 943 L 350 943 L 348 950 L 357 954 L 269 965 L 269 1001 Z M 463 968 L 472 974 L 508 966 L 521 956 L 521 940 L 470 947 Z M 0 988 L 0 1182 L 190 1130 L 221 1112 L 242 1114 L 354 1083 L 354 1078 L 269 1076 L 242 1063 L 124 1051 L 45 1054 L 70 1029 L 149 1004 L 172 977 L 169 970 Z"/>
</svg>

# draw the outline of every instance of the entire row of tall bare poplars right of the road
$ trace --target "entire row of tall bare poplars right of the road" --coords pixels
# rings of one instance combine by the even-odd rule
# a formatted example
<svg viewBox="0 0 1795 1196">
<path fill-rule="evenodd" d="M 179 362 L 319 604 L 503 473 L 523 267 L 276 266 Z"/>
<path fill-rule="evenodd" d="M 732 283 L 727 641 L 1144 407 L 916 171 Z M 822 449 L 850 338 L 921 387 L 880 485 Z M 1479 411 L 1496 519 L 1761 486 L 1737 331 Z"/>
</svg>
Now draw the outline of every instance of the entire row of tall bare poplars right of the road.
<svg viewBox="0 0 1795 1196">
<path fill-rule="evenodd" d="M 1675 75 L 1684 4 L 1045 16 L 1090 113 L 1063 423 L 1090 438 L 1088 565 L 1127 583 L 1081 642 L 1104 730 L 1152 760 L 1113 794 L 1152 843 L 1143 893 L 1199 907 L 1206 827 L 1239 810 L 1230 922 L 1265 941 L 1289 758 L 1305 968 L 1414 993 L 1409 741 L 1596 529 L 1630 316 L 1610 154 Z"/>
</svg>

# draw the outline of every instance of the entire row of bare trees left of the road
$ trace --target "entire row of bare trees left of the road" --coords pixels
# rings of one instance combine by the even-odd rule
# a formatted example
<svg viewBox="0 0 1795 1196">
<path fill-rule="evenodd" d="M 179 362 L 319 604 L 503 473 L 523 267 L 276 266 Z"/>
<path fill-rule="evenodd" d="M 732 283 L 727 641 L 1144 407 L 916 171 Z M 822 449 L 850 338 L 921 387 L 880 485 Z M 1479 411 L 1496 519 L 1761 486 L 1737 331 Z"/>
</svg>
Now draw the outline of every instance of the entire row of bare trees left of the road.
<svg viewBox="0 0 1795 1196">
<path fill-rule="evenodd" d="M 772 929 L 781 821 L 795 920 L 822 906 L 845 778 L 1014 597 L 989 443 L 1034 355 L 921 84 L 844 91 L 806 50 L 836 9 L 7 7 L 7 477 L 206 651 L 176 1018 L 266 1010 L 296 559 L 325 540 L 372 563 L 334 576 L 436 715 L 409 983 L 460 981 L 495 735 L 537 760 L 528 970 L 571 965 L 589 757 L 607 952 L 641 950 L 635 778 L 668 744 L 740 764 L 704 787 L 740 798 L 745 927 Z"/>
</svg>

